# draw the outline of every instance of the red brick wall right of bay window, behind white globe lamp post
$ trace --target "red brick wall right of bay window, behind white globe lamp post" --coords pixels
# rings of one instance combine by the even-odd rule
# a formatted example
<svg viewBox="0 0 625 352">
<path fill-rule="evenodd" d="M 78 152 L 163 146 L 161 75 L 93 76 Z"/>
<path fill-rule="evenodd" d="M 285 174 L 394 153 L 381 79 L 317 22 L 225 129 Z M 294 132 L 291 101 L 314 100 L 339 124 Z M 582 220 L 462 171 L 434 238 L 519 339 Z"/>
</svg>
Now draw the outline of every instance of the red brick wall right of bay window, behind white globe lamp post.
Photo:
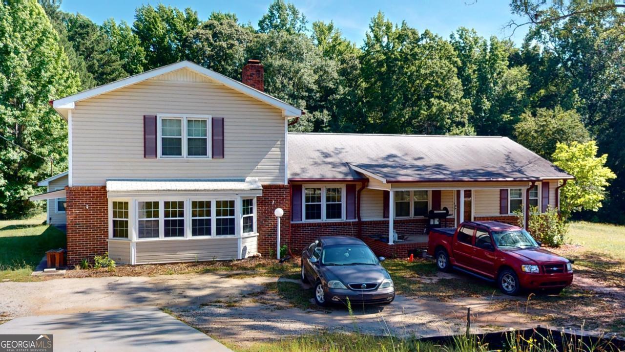
<svg viewBox="0 0 625 352">
<path fill-rule="evenodd" d="M 287 244 L 291 229 L 291 186 L 263 185 L 262 197 L 256 199 L 256 228 L 258 232 L 258 252 L 269 256 L 269 251 L 276 254 L 277 219 L 276 208 L 282 208 L 284 215 L 280 220 L 280 243 Z"/>
</svg>

